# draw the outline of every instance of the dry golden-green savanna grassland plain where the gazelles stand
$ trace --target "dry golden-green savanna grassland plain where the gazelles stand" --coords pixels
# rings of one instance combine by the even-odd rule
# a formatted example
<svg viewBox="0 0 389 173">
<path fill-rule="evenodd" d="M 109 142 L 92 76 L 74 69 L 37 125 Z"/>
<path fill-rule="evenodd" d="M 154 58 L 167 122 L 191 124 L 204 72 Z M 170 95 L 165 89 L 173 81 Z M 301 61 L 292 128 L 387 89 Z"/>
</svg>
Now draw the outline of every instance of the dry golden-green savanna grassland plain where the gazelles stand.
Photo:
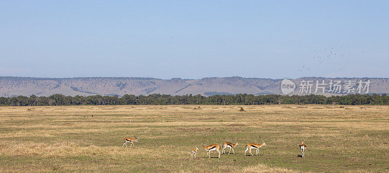
<svg viewBox="0 0 389 173">
<path fill-rule="evenodd" d="M 389 106 L 243 108 L 0 107 L 0 172 L 389 171 Z M 134 135 L 135 147 L 122 148 Z M 201 145 L 234 141 L 236 155 L 220 159 L 216 151 L 209 159 Z M 258 157 L 244 156 L 247 143 L 263 141 Z"/>
</svg>

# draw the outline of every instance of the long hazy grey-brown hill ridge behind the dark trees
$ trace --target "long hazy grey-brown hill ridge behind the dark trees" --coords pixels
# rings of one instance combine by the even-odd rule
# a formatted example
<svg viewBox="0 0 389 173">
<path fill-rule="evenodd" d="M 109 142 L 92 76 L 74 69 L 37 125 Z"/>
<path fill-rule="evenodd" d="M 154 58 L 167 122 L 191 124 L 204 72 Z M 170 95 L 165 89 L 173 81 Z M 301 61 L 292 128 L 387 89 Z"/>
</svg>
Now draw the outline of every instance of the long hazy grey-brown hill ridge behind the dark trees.
<svg viewBox="0 0 389 173">
<path fill-rule="evenodd" d="M 303 80 L 370 80 L 369 93 L 389 93 L 388 78 L 316 78 L 307 77 L 291 79 L 297 87 L 290 94 L 301 94 L 299 83 Z M 156 79 L 136 77 L 86 77 L 86 78 L 29 78 L 29 77 L 0 77 L 0 96 L 49 96 L 52 94 L 64 95 L 119 95 L 134 94 L 281 94 L 281 82 L 283 79 L 264 78 L 202 78 L 202 79 Z M 313 86 L 312 91 L 316 89 Z M 326 86 L 329 90 L 329 85 Z M 309 93 L 303 93 L 309 94 Z M 317 93 L 317 94 L 322 94 Z M 336 95 L 326 92 L 323 95 Z"/>
</svg>

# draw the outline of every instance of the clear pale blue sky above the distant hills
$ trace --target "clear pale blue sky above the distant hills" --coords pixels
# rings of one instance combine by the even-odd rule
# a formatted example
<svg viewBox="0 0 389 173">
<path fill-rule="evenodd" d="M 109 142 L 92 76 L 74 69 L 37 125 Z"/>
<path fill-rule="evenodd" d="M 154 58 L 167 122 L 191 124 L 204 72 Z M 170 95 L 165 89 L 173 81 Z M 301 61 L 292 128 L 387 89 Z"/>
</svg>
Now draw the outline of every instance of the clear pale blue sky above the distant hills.
<svg viewBox="0 0 389 173">
<path fill-rule="evenodd" d="M 388 78 L 388 7 L 387 0 L 3 0 L 0 76 Z"/>
</svg>

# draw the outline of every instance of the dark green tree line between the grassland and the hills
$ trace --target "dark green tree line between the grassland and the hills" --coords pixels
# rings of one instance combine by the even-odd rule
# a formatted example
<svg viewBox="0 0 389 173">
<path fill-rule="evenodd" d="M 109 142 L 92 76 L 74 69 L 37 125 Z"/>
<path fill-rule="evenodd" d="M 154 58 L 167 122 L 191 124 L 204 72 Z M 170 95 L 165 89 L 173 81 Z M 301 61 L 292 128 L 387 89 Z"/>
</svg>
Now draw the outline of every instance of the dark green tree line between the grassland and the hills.
<svg viewBox="0 0 389 173">
<path fill-rule="evenodd" d="M 274 105 L 274 104 L 339 104 L 339 105 L 389 105 L 387 94 L 324 95 L 129 95 L 114 96 L 51 96 L 0 97 L 1 106 L 61 106 L 61 105 Z"/>
</svg>

